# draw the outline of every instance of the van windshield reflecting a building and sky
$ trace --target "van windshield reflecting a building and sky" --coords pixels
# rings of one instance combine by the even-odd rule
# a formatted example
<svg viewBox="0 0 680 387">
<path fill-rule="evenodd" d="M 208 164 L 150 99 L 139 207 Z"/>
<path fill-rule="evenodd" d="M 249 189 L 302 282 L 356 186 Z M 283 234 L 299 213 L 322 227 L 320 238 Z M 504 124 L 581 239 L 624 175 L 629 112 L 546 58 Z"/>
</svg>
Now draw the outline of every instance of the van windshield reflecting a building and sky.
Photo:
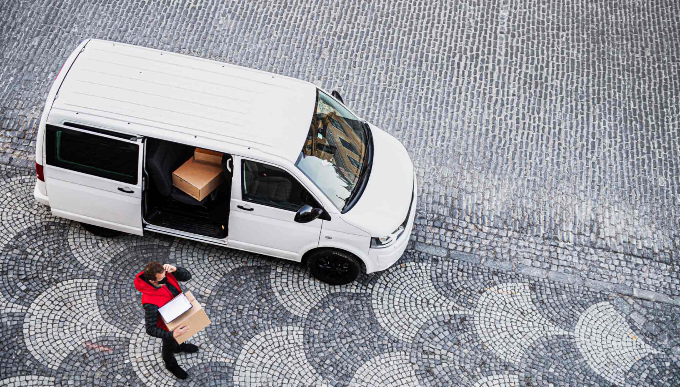
<svg viewBox="0 0 680 387">
<path fill-rule="evenodd" d="M 316 109 L 301 157 L 295 163 L 343 209 L 366 168 L 367 132 L 360 120 L 335 98 L 317 90 Z"/>
</svg>

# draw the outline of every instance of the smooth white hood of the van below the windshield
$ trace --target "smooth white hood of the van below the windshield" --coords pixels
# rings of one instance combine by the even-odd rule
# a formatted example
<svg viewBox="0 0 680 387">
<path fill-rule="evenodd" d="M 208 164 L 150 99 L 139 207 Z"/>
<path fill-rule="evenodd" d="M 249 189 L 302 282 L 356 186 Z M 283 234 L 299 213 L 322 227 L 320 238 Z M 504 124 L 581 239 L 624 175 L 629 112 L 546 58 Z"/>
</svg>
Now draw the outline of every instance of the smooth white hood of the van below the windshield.
<svg viewBox="0 0 680 387">
<path fill-rule="evenodd" d="M 393 136 L 371 124 L 373 167 L 359 201 L 342 219 L 373 237 L 392 234 L 403 223 L 413 194 L 413 162 Z"/>
</svg>

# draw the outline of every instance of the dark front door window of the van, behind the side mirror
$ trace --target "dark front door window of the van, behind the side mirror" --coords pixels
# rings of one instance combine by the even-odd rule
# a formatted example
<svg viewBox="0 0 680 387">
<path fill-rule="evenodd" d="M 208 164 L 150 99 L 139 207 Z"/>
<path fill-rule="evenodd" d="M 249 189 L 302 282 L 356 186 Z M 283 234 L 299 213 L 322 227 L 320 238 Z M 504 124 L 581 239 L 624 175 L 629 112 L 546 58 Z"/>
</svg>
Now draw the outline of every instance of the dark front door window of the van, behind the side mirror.
<svg viewBox="0 0 680 387">
<path fill-rule="evenodd" d="M 241 198 L 297 211 L 304 204 L 320 207 L 314 198 L 288 172 L 275 166 L 243 160 L 241 162 Z"/>
</svg>

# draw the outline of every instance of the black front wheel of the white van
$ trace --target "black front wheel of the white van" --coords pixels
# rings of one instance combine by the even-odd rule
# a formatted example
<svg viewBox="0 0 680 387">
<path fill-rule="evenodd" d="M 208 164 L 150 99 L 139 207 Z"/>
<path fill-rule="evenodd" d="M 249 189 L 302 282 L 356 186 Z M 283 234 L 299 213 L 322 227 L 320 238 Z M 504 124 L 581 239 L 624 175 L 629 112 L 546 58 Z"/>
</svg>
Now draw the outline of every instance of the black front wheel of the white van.
<svg viewBox="0 0 680 387">
<path fill-rule="evenodd" d="M 361 274 L 361 261 L 346 251 L 323 248 L 309 253 L 307 268 L 322 282 L 342 285 L 356 280 Z"/>
</svg>

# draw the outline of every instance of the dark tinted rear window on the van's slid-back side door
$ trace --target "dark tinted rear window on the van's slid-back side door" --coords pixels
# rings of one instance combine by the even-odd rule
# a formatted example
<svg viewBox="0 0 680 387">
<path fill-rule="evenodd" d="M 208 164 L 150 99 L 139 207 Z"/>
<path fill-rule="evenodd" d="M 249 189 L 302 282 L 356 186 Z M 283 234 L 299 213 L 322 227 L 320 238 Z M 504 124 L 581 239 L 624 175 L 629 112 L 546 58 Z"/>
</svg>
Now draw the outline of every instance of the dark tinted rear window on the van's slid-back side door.
<svg viewBox="0 0 680 387">
<path fill-rule="evenodd" d="M 47 164 L 137 184 L 139 145 L 46 126 Z"/>
</svg>

